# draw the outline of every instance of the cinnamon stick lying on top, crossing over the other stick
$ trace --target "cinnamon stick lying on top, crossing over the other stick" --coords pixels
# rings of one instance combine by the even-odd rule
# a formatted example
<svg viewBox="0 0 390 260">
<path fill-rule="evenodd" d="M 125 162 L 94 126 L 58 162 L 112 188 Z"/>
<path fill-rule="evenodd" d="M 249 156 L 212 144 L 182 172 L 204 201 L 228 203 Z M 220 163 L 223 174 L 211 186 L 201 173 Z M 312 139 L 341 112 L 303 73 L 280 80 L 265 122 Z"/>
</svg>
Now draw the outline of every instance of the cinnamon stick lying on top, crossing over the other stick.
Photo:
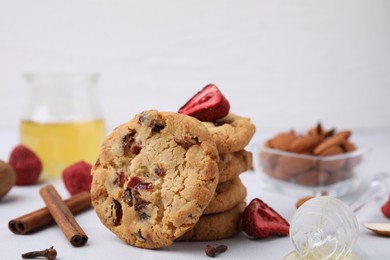
<svg viewBox="0 0 390 260">
<path fill-rule="evenodd" d="M 47 209 L 50 211 L 50 214 L 53 216 L 62 232 L 64 232 L 69 242 L 75 247 L 85 245 L 88 241 L 88 236 L 77 223 L 72 212 L 62 200 L 54 186 L 48 184 L 41 188 L 39 193 L 41 194 Z"/>
</svg>

